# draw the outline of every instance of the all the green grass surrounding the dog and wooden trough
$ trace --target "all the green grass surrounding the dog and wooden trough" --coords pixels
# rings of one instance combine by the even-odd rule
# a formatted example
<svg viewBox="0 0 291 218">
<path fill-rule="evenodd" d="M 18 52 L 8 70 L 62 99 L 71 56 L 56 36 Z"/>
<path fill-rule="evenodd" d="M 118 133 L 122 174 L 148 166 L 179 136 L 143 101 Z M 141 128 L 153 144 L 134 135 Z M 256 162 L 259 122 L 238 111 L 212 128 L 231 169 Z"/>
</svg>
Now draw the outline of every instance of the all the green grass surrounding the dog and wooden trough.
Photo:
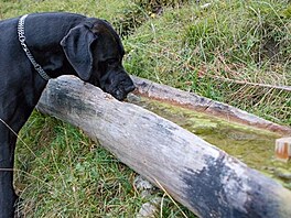
<svg viewBox="0 0 291 218">
<path fill-rule="evenodd" d="M 0 3 L 0 19 L 42 11 L 107 19 L 123 35 L 129 73 L 291 126 L 291 94 L 280 89 L 291 85 L 288 0 Z M 80 130 L 35 111 L 20 138 L 15 186 L 26 217 L 133 217 L 144 203 L 136 173 Z M 164 197 L 158 217 L 183 214 Z"/>
</svg>

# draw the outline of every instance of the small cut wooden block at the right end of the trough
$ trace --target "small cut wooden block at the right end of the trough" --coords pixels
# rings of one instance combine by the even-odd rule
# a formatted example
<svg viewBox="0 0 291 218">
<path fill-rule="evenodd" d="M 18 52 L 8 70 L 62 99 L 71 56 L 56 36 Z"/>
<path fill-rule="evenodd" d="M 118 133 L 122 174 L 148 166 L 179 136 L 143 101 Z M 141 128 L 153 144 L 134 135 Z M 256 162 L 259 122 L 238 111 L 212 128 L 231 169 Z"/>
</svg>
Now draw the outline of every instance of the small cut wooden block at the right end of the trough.
<svg viewBox="0 0 291 218">
<path fill-rule="evenodd" d="M 291 137 L 276 140 L 276 157 L 280 161 L 288 162 L 291 159 Z"/>
</svg>

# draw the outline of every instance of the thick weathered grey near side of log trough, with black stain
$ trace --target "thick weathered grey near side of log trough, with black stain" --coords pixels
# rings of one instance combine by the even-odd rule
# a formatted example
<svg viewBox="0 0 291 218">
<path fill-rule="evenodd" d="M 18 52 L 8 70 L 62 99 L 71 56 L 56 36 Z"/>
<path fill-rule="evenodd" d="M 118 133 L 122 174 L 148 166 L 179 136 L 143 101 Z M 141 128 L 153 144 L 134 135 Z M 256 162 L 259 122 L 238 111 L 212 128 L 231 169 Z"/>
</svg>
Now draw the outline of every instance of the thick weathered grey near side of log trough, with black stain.
<svg viewBox="0 0 291 218">
<path fill-rule="evenodd" d="M 98 140 L 200 217 L 291 217 L 291 192 L 181 127 L 72 76 L 37 106 Z"/>
</svg>

